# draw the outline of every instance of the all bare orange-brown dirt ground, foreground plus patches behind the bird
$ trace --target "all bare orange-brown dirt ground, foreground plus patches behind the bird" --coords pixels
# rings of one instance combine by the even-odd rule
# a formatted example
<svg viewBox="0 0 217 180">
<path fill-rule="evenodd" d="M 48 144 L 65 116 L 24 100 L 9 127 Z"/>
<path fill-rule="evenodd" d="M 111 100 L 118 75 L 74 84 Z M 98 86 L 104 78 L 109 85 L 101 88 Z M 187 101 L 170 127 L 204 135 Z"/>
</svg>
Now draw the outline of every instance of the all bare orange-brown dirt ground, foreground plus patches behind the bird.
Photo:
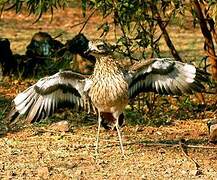
<svg viewBox="0 0 217 180">
<path fill-rule="evenodd" d="M 35 32 L 47 31 L 53 36 L 62 33 L 60 40 L 65 41 L 80 30 L 81 26 L 72 25 L 81 22 L 81 18 L 80 10 L 66 9 L 59 11 L 51 24 L 48 15 L 32 24 L 31 16 L 7 12 L 0 20 L 0 37 L 9 38 L 13 52 L 23 54 Z M 99 21 L 99 17 L 94 17 L 85 28 L 90 39 L 100 35 L 96 31 Z M 189 57 L 203 56 L 198 29 L 177 31 L 180 36 L 171 34 L 175 42 L 182 42 L 177 43 L 182 56 L 189 51 L 192 52 Z M 189 42 L 183 42 L 183 36 Z M 12 98 L 31 83 L 8 79 L 1 82 L 2 113 L 9 109 Z M 197 118 L 173 119 L 170 125 L 160 127 L 127 123 L 122 129 L 125 158 L 121 156 L 117 133 L 102 129 L 100 152 L 95 159 L 96 119 L 84 122 L 84 118 L 77 116 L 68 132 L 54 131 L 49 124 L 4 131 L 0 138 L 0 179 L 217 179 L 217 147 L 208 143 L 206 126 L 215 117 L 216 97 L 206 99 L 210 108 Z M 68 120 L 69 116 L 66 113 L 60 120 Z M 181 139 L 188 145 L 189 156 L 181 148 Z"/>
</svg>

